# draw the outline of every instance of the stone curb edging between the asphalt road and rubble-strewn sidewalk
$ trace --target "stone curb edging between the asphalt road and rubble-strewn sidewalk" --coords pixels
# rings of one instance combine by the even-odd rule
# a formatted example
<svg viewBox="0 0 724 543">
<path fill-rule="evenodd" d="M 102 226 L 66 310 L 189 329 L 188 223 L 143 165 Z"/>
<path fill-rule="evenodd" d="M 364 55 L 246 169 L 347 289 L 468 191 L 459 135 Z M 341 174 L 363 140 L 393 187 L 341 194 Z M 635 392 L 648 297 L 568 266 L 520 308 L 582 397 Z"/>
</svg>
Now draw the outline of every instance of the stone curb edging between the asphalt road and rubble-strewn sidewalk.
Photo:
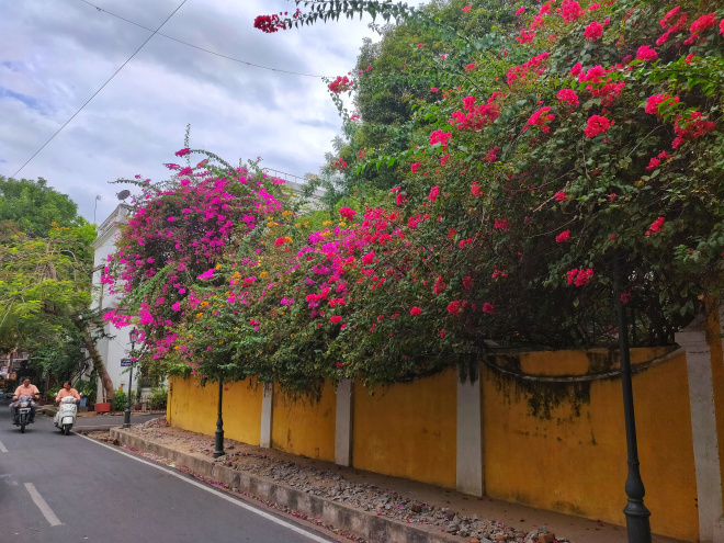
<svg viewBox="0 0 724 543">
<path fill-rule="evenodd" d="M 166 445 L 148 442 L 121 428 L 112 428 L 110 432 L 111 438 L 117 439 L 118 442 L 131 449 L 163 456 L 182 464 L 195 475 L 218 480 L 260 499 L 318 518 L 326 524 L 332 524 L 337 529 L 361 535 L 369 543 L 460 543 L 463 541 L 446 533 L 431 532 L 428 531 L 429 529 L 416 528 L 412 524 L 360 511 L 328 498 L 282 485 L 268 477 L 238 472 L 201 455 L 174 451 Z M 435 529 L 438 528 L 435 527 Z"/>
</svg>

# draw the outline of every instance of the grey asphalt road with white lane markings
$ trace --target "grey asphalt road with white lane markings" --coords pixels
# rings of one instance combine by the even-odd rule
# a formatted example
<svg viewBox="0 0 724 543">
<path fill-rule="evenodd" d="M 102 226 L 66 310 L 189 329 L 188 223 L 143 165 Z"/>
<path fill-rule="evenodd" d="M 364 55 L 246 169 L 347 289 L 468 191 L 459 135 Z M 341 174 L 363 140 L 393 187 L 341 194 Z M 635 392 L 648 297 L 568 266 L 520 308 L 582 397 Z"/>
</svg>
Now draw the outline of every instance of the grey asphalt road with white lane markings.
<svg viewBox="0 0 724 543">
<path fill-rule="evenodd" d="M 0 542 L 333 541 L 37 417 L 21 434 L 0 405 Z"/>
</svg>

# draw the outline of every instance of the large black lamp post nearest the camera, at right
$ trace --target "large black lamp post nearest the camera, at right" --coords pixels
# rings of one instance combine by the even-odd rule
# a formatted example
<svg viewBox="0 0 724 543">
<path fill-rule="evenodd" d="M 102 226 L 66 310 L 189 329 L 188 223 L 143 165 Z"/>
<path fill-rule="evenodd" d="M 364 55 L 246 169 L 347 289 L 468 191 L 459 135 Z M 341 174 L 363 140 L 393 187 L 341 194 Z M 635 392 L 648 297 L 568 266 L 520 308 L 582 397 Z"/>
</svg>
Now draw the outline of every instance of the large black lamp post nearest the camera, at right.
<svg viewBox="0 0 724 543">
<path fill-rule="evenodd" d="M 629 543 L 652 543 L 651 511 L 644 506 L 644 482 L 638 471 L 638 445 L 636 444 L 636 419 L 634 417 L 633 387 L 631 384 L 631 359 L 629 358 L 629 323 L 621 299 L 621 282 L 625 275 L 625 261 L 618 256 L 613 263 L 615 308 L 619 314 L 619 351 L 621 357 L 621 384 L 623 386 L 623 416 L 626 421 L 626 448 L 629 451 L 629 476 L 626 496 L 629 502 L 623 508 L 626 516 Z"/>
</svg>

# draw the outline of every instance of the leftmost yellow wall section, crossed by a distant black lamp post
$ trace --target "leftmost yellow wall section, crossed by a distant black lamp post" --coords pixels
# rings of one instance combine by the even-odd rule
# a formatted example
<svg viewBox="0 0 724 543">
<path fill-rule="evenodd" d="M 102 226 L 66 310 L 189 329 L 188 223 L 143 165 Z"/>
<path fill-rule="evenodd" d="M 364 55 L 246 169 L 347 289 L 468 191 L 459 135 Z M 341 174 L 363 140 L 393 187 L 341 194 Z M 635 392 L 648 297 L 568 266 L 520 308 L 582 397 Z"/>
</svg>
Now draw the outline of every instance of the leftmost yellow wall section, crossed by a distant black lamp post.
<svg viewBox="0 0 724 543">
<path fill-rule="evenodd" d="M 261 398 L 264 387 L 256 380 L 225 385 L 222 409 L 224 435 L 252 445 L 259 444 L 261 433 Z M 169 425 L 192 432 L 213 435 L 216 431 L 218 383 L 206 386 L 196 380 L 169 378 L 169 399 L 166 416 Z"/>
</svg>

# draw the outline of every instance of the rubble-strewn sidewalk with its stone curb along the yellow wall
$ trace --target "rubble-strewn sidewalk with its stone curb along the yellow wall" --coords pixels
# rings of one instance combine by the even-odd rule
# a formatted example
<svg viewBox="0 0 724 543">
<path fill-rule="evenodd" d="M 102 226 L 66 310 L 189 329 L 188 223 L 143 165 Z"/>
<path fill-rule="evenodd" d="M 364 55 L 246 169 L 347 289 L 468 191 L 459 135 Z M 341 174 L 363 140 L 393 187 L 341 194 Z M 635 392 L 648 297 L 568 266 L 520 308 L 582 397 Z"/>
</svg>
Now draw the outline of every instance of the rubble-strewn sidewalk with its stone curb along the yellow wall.
<svg viewBox="0 0 724 543">
<path fill-rule="evenodd" d="M 354 535 L 354 541 L 538 543 L 540 538 L 552 543 L 544 535 L 551 533 L 561 543 L 627 542 L 624 527 L 477 498 L 233 440 L 225 440 L 227 455 L 214 461 L 212 437 L 169 428 L 163 419 L 114 429 L 111 441 L 282 513 L 310 520 L 346 538 Z M 621 507 L 624 505 L 622 490 Z M 654 535 L 653 543 L 681 542 Z"/>
</svg>

